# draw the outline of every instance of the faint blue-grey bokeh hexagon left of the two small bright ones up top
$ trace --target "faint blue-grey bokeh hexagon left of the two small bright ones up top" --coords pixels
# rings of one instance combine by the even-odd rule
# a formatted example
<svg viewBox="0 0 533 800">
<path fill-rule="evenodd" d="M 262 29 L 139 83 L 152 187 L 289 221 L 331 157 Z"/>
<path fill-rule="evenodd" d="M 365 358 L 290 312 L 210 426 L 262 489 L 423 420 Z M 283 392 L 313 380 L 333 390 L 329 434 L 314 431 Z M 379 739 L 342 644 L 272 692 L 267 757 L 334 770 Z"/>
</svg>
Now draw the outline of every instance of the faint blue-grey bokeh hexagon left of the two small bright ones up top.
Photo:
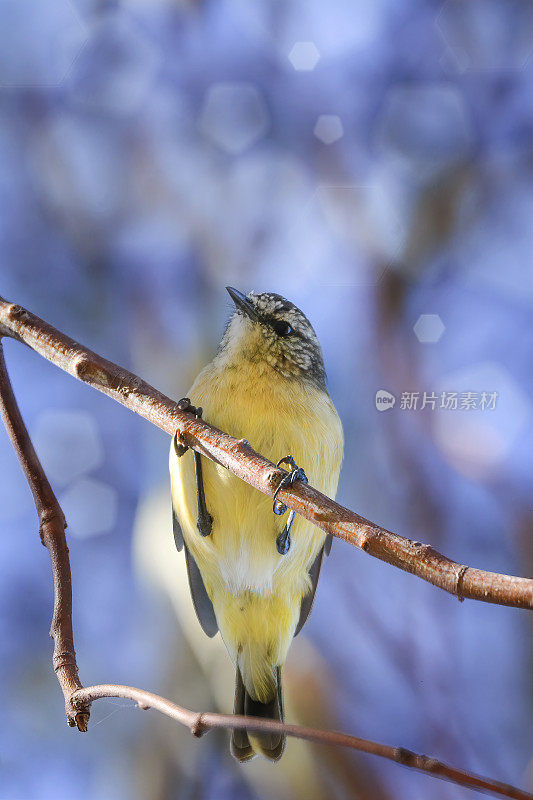
<svg viewBox="0 0 533 800">
<path fill-rule="evenodd" d="M 222 150 L 238 155 L 261 139 L 270 117 L 251 83 L 215 83 L 205 97 L 199 127 Z"/>
</svg>

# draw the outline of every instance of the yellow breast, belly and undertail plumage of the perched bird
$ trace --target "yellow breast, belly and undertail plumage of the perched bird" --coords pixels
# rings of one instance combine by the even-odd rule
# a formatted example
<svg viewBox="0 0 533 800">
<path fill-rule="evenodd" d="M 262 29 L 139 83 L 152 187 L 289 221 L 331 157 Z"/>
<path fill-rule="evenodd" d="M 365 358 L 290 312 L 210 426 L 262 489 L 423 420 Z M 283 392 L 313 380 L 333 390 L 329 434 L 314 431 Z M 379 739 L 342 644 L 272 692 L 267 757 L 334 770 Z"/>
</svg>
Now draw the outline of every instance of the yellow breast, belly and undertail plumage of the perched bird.
<svg viewBox="0 0 533 800">
<path fill-rule="evenodd" d="M 204 419 L 273 462 L 291 454 L 309 482 L 330 497 L 337 489 L 343 451 L 342 426 L 325 391 L 287 380 L 268 365 L 242 362 L 238 368 L 206 367 L 189 397 Z M 243 641 L 261 641 L 282 663 L 298 621 L 308 570 L 324 534 L 296 517 L 291 547 L 280 555 L 276 538 L 287 515 L 276 516 L 272 499 L 203 459 L 206 504 L 213 517 L 210 536 L 196 528 L 197 497 L 193 454 L 177 458 L 171 448 L 173 502 L 185 542 L 202 573 L 222 636 L 236 657 Z M 244 611 L 245 609 L 245 611 Z M 265 644 L 265 647 L 267 644 Z M 277 660 L 276 660 L 277 659 Z"/>
</svg>

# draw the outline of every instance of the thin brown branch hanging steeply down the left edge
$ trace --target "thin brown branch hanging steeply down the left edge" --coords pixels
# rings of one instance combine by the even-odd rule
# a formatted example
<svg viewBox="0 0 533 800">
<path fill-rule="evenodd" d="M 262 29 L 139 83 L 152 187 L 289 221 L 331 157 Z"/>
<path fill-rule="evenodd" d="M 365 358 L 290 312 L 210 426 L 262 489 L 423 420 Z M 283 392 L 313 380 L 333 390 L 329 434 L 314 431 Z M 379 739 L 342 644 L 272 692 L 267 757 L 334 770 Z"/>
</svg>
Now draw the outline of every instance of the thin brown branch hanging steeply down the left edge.
<svg viewBox="0 0 533 800">
<path fill-rule="evenodd" d="M 26 474 L 39 516 L 41 542 L 48 549 L 54 578 L 54 613 L 50 636 L 54 640 L 54 670 L 63 690 L 67 721 L 71 727 L 87 730 L 89 705 L 72 705 L 72 694 L 81 688 L 72 633 L 72 585 L 65 537 L 66 522 L 37 457 L 22 419 L 4 360 L 0 339 L 0 415 Z"/>
</svg>

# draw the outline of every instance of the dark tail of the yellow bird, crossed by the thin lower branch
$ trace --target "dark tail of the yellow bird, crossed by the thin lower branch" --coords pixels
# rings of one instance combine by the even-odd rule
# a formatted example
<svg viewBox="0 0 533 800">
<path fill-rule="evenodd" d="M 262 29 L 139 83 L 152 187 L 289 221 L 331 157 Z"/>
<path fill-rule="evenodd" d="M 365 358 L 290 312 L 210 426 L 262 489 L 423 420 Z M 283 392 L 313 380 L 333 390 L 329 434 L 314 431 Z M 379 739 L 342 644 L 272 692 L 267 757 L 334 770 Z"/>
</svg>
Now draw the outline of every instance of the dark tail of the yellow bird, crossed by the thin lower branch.
<svg viewBox="0 0 533 800">
<path fill-rule="evenodd" d="M 239 667 L 235 683 L 234 714 L 245 714 L 263 719 L 275 719 L 283 722 L 283 702 L 281 697 L 281 671 L 277 667 L 277 692 L 269 703 L 253 700 L 243 683 Z M 281 733 L 248 733 L 246 730 L 234 730 L 231 737 L 231 752 L 237 761 L 250 761 L 257 753 L 261 753 L 271 761 L 281 758 L 285 749 L 285 736 Z"/>
</svg>

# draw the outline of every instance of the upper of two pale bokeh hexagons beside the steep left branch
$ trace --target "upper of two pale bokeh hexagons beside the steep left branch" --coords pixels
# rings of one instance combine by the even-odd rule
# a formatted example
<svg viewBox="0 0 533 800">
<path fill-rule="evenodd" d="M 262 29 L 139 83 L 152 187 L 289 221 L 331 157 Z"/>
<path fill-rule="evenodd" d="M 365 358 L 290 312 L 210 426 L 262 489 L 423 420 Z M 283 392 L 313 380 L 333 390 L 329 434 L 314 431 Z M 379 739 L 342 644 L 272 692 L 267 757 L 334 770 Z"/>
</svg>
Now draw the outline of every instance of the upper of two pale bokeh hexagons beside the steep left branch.
<svg viewBox="0 0 533 800">
<path fill-rule="evenodd" d="M 46 474 L 60 486 L 100 466 L 104 458 L 96 420 L 84 411 L 47 409 L 32 436 Z"/>
</svg>

